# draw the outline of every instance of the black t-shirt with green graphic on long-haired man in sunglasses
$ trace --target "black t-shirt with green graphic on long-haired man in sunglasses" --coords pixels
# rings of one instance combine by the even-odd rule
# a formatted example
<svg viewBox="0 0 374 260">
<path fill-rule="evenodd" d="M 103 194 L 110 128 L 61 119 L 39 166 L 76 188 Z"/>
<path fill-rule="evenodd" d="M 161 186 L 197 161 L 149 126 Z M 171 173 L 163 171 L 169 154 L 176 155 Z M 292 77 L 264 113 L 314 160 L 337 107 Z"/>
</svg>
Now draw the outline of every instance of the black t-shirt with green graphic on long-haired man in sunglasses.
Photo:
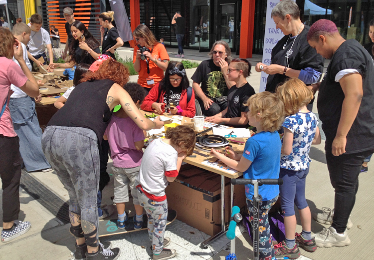
<svg viewBox="0 0 374 260">
<path fill-rule="evenodd" d="M 216 66 L 212 59 L 202 61 L 191 79 L 201 83 L 202 92 L 210 98 L 227 96 L 228 88 L 221 67 Z"/>
</svg>

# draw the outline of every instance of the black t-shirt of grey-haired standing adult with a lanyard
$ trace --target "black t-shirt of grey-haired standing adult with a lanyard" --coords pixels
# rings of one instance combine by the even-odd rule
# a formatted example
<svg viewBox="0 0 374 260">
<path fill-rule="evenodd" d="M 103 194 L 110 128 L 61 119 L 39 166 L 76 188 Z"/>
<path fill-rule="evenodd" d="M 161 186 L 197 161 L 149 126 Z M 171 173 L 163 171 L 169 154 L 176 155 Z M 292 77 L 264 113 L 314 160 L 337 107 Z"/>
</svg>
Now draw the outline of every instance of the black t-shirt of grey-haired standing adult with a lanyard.
<svg viewBox="0 0 374 260">
<path fill-rule="evenodd" d="M 290 37 L 292 36 L 291 34 L 281 38 L 271 51 L 271 64 L 287 66 L 288 56 L 288 65 L 290 68 L 296 70 L 312 68 L 322 74 L 325 59 L 320 54 L 317 54 L 317 51 L 309 45 L 307 41 L 309 28 L 309 26 L 305 25 L 296 38 L 292 39 Z M 293 44 L 294 40 L 295 43 Z M 283 49 L 284 44 L 286 46 Z M 265 90 L 275 92 L 278 84 L 283 83 L 286 79 L 288 77 L 283 74 L 269 75 Z"/>
</svg>

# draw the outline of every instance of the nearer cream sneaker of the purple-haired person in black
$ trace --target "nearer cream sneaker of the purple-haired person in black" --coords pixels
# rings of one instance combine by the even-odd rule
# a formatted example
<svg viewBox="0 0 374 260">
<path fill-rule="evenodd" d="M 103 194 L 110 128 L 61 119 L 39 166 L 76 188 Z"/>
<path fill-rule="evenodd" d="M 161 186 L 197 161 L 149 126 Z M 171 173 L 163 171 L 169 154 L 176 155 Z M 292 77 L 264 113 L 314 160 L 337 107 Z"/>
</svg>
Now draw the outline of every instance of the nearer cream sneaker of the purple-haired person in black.
<svg viewBox="0 0 374 260">
<path fill-rule="evenodd" d="M 319 248 L 345 247 L 351 244 L 347 231 L 340 236 L 333 227 L 324 228 L 321 232 L 314 235 L 316 246 Z"/>
</svg>

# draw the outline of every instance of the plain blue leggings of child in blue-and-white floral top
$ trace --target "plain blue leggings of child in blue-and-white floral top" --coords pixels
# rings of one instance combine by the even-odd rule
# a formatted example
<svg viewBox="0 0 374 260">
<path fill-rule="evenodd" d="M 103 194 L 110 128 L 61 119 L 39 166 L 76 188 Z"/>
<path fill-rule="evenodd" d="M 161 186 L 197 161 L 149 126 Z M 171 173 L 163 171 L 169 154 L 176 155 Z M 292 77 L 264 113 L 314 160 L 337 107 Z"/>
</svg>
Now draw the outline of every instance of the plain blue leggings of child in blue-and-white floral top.
<svg viewBox="0 0 374 260">
<path fill-rule="evenodd" d="M 294 203 L 299 210 L 308 207 L 305 199 L 305 180 L 308 173 L 309 168 L 302 171 L 280 168 L 279 178 L 283 180 L 283 185 L 279 186 L 279 191 L 283 216 L 295 215 Z"/>
</svg>

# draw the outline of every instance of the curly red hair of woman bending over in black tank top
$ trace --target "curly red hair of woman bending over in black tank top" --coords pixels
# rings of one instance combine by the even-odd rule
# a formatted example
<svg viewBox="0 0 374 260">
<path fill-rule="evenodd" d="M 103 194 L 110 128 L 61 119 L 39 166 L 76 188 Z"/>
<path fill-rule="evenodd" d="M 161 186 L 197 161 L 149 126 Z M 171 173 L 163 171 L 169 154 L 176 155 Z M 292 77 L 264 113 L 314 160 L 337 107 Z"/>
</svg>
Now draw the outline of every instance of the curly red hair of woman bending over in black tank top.
<svg viewBox="0 0 374 260">
<path fill-rule="evenodd" d="M 107 59 L 95 72 L 89 70 L 80 82 L 110 79 L 123 87 L 129 81 L 129 76 L 129 70 L 121 62 L 118 62 L 114 59 Z"/>
</svg>

